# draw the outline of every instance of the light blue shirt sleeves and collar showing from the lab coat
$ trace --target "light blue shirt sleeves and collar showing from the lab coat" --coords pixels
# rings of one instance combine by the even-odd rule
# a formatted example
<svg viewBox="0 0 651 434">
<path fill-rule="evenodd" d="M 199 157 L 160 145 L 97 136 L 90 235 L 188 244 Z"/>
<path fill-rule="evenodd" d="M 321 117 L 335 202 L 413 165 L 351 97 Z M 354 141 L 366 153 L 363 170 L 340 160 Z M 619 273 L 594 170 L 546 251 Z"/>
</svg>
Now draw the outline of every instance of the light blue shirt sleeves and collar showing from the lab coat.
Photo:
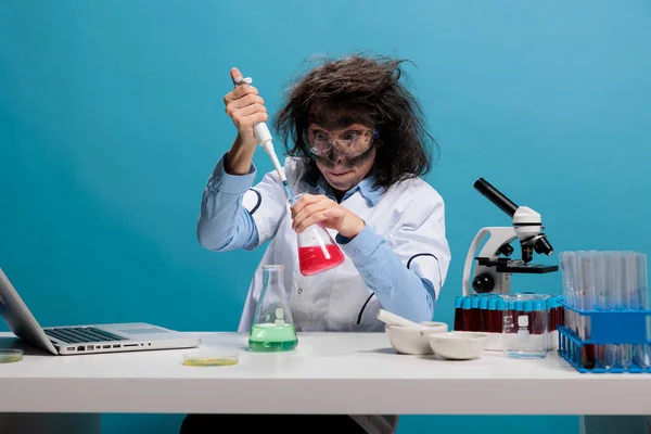
<svg viewBox="0 0 651 434">
<path fill-rule="evenodd" d="M 215 252 L 251 251 L 259 238 L 253 217 L 242 206 L 242 199 L 253 186 L 257 170 L 252 164 L 246 175 L 229 175 L 224 169 L 225 158 L 226 154 L 217 163 L 203 193 L 199 241 Z M 321 194 L 336 202 L 322 176 L 311 183 L 316 183 Z M 371 206 L 382 195 L 382 189 L 374 187 L 373 178 L 369 177 L 346 192 L 343 200 L 357 191 Z M 367 225 L 352 240 L 337 234 L 336 242 L 385 310 L 416 322 L 432 320 L 436 302 L 432 282 L 410 271 L 382 235 Z"/>
</svg>

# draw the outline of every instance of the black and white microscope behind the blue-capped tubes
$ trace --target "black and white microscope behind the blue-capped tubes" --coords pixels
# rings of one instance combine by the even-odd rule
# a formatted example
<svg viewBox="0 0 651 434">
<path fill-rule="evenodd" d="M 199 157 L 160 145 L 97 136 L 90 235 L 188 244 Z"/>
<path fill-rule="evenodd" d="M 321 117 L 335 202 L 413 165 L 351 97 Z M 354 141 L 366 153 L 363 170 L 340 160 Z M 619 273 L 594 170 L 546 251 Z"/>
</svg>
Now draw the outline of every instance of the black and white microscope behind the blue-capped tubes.
<svg viewBox="0 0 651 434">
<path fill-rule="evenodd" d="M 463 267 L 463 295 L 508 294 L 512 273 L 546 273 L 558 271 L 559 267 L 531 264 L 534 252 L 551 255 L 553 248 L 542 233 L 540 214 L 527 206 L 518 206 L 484 178 L 475 181 L 474 188 L 498 208 L 508 214 L 513 225 L 511 227 L 482 228 L 470 245 Z M 489 237 L 481 252 L 476 254 L 486 237 Z M 513 247 L 511 242 L 520 240 L 521 259 L 511 259 Z M 475 256 L 476 255 L 476 256 Z M 476 260 L 471 281 L 471 269 Z"/>
</svg>

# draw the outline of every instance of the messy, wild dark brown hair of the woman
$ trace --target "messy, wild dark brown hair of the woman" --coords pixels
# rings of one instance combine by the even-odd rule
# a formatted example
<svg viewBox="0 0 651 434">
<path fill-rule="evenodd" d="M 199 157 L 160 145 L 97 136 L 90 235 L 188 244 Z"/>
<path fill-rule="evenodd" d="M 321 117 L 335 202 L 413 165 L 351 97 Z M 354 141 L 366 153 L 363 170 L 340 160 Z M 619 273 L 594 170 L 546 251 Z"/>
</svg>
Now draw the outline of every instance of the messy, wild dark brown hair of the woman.
<svg viewBox="0 0 651 434">
<path fill-rule="evenodd" d="M 427 174 L 436 142 L 419 102 L 400 81 L 404 62 L 356 54 L 322 61 L 294 81 L 273 119 L 286 153 L 304 158 L 308 174 L 318 173 L 304 136 L 309 124 L 342 128 L 361 123 L 379 132 L 372 168 L 376 184 L 388 188 Z"/>
</svg>

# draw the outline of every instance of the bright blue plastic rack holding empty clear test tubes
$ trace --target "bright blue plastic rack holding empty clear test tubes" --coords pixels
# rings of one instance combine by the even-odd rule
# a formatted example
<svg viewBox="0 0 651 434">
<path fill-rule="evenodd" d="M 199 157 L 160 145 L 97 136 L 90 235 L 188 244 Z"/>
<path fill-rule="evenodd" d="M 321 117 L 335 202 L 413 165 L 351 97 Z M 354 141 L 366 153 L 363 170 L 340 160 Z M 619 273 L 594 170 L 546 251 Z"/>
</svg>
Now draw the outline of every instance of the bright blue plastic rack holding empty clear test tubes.
<svg viewBox="0 0 651 434">
<path fill-rule="evenodd" d="M 637 357 L 631 357 L 627 368 L 620 365 L 603 367 L 599 362 L 601 357 L 598 348 L 603 346 L 630 345 L 649 352 L 651 344 L 651 310 L 648 309 L 623 309 L 623 310 L 583 310 L 578 309 L 565 299 L 559 299 L 565 309 L 565 318 L 570 312 L 575 315 L 575 323 L 588 323 L 590 329 L 589 339 L 582 339 L 575 330 L 567 326 L 559 327 L 559 354 L 577 371 L 582 373 L 644 373 L 651 372 L 651 363 Z M 567 322 L 566 322 L 567 323 Z M 646 347 L 646 348 L 644 348 Z"/>
</svg>

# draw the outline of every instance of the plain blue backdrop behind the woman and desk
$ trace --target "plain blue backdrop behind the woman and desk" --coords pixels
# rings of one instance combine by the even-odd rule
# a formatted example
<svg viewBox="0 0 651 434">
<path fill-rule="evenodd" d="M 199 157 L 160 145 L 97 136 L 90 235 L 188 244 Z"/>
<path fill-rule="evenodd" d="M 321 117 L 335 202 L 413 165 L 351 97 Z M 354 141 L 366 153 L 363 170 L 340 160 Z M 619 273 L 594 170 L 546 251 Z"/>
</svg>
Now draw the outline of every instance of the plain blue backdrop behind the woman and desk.
<svg viewBox="0 0 651 434">
<path fill-rule="evenodd" d="M 407 73 L 441 145 L 426 179 L 447 204 L 454 258 L 435 317 L 450 322 L 472 238 L 510 224 L 473 190 L 478 177 L 541 213 L 557 252 L 648 251 L 649 41 L 642 0 L 2 2 L 0 267 L 42 326 L 235 330 L 263 251 L 214 254 L 195 238 L 235 132 L 229 68 L 275 112 L 305 59 L 371 50 L 416 63 Z M 272 168 L 264 152 L 255 163 Z M 558 292 L 560 279 L 512 286 Z M 469 396 L 465 410 L 481 406 Z M 176 433 L 180 420 L 110 414 L 104 430 Z M 577 425 L 406 417 L 399 432 Z"/>
</svg>

